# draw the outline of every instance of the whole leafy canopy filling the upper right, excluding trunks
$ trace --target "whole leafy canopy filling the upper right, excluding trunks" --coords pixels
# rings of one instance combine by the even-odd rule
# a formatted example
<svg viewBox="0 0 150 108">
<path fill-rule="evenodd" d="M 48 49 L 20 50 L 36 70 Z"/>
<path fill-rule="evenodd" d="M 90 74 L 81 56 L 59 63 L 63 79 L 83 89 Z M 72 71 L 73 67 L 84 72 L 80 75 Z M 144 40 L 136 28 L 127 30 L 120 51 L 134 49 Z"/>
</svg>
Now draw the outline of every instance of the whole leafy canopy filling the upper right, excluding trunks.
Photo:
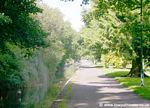
<svg viewBox="0 0 150 108">
<path fill-rule="evenodd" d="M 148 64 L 150 56 L 147 53 L 150 50 L 147 44 L 150 25 L 148 0 L 143 1 L 142 7 L 140 1 L 94 0 L 92 2 L 90 11 L 83 14 L 87 29 L 83 32 L 86 46 L 89 44 L 95 46 L 93 43 L 96 40 L 100 44 L 97 49 L 101 49 L 101 52 L 99 51 L 96 55 L 113 52 L 127 61 L 139 59 L 141 46 L 143 46 L 143 58 Z M 90 39 L 91 37 L 94 39 Z M 140 67 L 138 72 L 140 72 Z"/>
</svg>

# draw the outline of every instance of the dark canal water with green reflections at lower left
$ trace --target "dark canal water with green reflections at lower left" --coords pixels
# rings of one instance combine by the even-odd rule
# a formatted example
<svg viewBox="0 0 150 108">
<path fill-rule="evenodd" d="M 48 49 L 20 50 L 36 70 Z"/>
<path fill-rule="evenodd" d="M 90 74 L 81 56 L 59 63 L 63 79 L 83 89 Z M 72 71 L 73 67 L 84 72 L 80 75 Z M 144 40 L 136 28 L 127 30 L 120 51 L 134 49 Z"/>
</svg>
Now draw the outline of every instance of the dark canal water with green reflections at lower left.
<svg viewBox="0 0 150 108">
<path fill-rule="evenodd" d="M 46 92 L 47 86 L 44 85 L 24 90 L 11 90 L 7 93 L 4 91 L 5 96 L 0 96 L 0 108 L 35 108 L 35 105 L 42 101 Z"/>
</svg>

